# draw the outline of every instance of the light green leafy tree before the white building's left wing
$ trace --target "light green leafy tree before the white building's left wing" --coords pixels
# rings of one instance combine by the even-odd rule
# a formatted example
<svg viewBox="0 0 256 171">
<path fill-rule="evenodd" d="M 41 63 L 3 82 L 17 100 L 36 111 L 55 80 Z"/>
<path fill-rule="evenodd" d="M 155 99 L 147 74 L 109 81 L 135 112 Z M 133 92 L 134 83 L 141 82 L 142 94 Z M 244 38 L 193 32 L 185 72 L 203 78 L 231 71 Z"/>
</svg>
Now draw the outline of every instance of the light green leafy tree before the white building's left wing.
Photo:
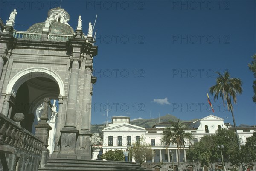
<svg viewBox="0 0 256 171">
<path fill-rule="evenodd" d="M 140 164 L 146 160 L 151 160 L 154 156 L 151 145 L 145 142 L 143 135 L 140 137 L 140 141 L 132 143 L 129 152 Z"/>
</svg>

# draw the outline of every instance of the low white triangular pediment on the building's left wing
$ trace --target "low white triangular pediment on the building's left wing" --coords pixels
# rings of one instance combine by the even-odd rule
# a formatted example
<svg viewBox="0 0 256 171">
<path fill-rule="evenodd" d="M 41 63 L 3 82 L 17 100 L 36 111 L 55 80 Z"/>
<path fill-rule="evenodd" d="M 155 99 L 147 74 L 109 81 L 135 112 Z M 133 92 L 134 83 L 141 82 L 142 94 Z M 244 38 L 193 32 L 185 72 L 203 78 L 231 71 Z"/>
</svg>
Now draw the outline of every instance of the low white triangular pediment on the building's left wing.
<svg viewBox="0 0 256 171">
<path fill-rule="evenodd" d="M 119 132 L 119 131 L 123 131 L 123 132 L 137 132 L 137 131 L 144 131 L 146 132 L 147 130 L 145 128 L 142 127 L 138 127 L 135 125 L 131 125 L 131 124 L 120 124 L 120 125 L 116 125 L 116 126 L 111 126 L 111 127 L 107 127 L 103 130 L 103 132 L 107 132 L 107 131 L 111 131 L 111 132 Z"/>
</svg>

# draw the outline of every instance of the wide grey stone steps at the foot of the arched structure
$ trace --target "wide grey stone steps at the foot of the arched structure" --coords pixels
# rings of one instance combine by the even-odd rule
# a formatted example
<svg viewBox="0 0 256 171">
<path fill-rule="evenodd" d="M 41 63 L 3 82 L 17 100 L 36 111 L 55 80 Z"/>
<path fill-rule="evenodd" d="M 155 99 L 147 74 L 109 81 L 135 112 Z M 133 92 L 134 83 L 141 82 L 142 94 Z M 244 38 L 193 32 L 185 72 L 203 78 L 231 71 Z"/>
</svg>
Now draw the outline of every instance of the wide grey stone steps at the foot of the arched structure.
<svg viewBox="0 0 256 171">
<path fill-rule="evenodd" d="M 149 171 L 134 162 L 51 158 L 38 171 Z"/>
</svg>

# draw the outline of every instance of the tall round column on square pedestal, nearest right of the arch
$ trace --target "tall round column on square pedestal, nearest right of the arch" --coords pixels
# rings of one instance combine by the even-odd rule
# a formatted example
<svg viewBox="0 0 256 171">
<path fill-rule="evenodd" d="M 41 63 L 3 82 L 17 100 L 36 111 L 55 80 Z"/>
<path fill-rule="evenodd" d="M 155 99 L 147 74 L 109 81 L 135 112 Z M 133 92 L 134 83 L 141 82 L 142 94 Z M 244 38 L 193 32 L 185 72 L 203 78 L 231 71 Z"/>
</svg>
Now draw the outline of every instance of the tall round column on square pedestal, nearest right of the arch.
<svg viewBox="0 0 256 171">
<path fill-rule="evenodd" d="M 77 32 L 77 31 L 76 31 Z M 71 74 L 69 81 L 69 91 L 67 99 L 67 113 L 65 126 L 61 132 L 61 146 L 58 158 L 76 159 L 76 142 L 80 142 L 78 139 L 79 131 L 76 129 L 76 115 L 77 115 L 77 90 L 78 90 L 78 78 L 79 67 L 81 64 L 81 51 L 83 50 L 85 40 L 79 36 L 76 38 L 69 38 L 69 46 L 73 49 L 70 56 Z M 80 63 L 80 64 L 79 64 Z M 82 139 L 84 140 L 84 139 Z M 85 141 L 85 140 L 84 140 Z M 84 143 L 82 143 L 84 147 Z"/>
</svg>

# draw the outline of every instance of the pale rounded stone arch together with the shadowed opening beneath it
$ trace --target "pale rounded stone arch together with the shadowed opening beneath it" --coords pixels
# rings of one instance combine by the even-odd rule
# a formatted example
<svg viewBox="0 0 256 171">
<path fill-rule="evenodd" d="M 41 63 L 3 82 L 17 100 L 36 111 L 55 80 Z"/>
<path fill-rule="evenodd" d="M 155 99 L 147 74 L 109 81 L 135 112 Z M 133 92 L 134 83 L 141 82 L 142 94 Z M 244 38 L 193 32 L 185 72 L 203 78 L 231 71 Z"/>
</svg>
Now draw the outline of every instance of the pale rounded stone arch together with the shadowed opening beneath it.
<svg viewBox="0 0 256 171">
<path fill-rule="evenodd" d="M 65 95 L 61 78 L 52 70 L 44 67 L 33 67 L 17 73 L 7 85 L 6 94 L 15 97 L 15 104 L 7 112 L 8 117 L 21 112 L 25 119 L 21 125 L 32 131 L 34 113 L 45 97 L 58 99 Z"/>
</svg>

